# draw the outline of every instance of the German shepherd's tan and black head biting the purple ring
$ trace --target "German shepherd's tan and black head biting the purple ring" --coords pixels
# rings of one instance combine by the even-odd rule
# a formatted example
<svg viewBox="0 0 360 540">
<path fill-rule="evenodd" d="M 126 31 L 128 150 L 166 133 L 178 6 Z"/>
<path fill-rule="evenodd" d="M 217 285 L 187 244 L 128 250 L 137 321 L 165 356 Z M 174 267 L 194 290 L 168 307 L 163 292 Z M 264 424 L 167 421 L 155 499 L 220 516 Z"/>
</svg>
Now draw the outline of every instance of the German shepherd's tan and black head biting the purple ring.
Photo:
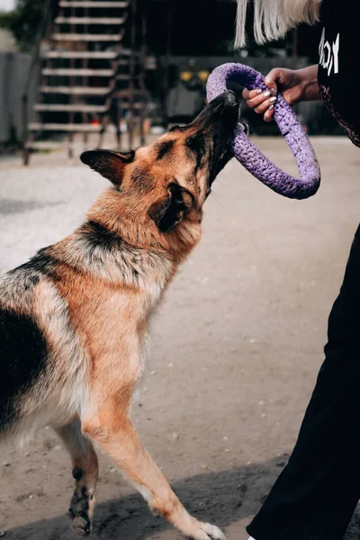
<svg viewBox="0 0 360 540">
<path fill-rule="evenodd" d="M 138 238 L 144 227 L 153 233 L 156 229 L 158 237 L 170 235 L 180 224 L 199 224 L 211 184 L 232 157 L 238 110 L 238 97 L 228 91 L 192 123 L 172 128 L 136 152 L 84 152 L 83 163 L 115 186 L 121 212 L 116 221 L 126 219 L 127 229 L 137 229 Z"/>
</svg>

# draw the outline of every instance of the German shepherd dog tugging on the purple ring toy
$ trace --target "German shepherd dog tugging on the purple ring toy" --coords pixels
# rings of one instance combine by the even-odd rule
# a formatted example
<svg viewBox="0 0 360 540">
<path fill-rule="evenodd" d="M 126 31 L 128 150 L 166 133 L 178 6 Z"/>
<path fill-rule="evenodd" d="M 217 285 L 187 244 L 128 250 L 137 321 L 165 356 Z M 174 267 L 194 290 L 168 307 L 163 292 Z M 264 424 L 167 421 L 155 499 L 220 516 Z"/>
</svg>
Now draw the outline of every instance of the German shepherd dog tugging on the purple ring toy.
<svg viewBox="0 0 360 540">
<path fill-rule="evenodd" d="M 195 540 L 225 538 L 177 499 L 139 441 L 130 401 L 149 319 L 201 238 L 202 205 L 231 157 L 238 110 L 227 91 L 148 147 L 83 153 L 112 187 L 79 229 L 0 281 L 0 443 L 57 431 L 72 459 L 69 516 L 81 536 L 94 513 L 96 444 L 154 514 Z"/>
</svg>

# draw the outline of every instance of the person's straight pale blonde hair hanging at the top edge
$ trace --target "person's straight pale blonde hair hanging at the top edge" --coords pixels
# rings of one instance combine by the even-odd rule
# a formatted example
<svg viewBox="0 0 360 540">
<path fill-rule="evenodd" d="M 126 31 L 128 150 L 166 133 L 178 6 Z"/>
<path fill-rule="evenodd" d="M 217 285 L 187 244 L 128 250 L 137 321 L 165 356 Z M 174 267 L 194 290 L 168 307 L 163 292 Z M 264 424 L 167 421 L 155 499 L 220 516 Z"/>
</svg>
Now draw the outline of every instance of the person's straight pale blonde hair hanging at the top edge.
<svg viewBox="0 0 360 540">
<path fill-rule="evenodd" d="M 245 23 L 249 0 L 238 0 L 236 47 L 247 41 Z M 253 0 L 254 35 L 257 43 L 283 38 L 285 33 L 299 23 L 316 23 L 320 16 L 322 0 Z"/>
</svg>

